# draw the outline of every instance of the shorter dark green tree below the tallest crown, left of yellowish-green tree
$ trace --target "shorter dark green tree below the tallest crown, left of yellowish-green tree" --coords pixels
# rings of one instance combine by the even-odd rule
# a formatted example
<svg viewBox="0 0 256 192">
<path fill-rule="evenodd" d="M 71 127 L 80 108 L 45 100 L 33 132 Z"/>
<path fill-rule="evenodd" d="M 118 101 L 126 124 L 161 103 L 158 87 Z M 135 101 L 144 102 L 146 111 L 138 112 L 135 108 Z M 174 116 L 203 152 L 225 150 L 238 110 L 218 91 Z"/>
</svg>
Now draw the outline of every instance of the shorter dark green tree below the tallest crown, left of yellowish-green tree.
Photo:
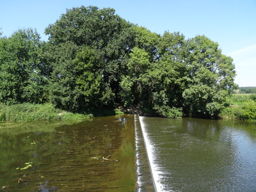
<svg viewBox="0 0 256 192">
<path fill-rule="evenodd" d="M 73 42 L 49 45 L 45 58 L 52 65 L 49 83 L 49 100 L 56 107 L 67 111 L 79 109 L 83 93 L 76 90 L 76 69 L 73 60 L 81 49 Z M 55 53 L 55 54 L 52 54 Z"/>
</svg>

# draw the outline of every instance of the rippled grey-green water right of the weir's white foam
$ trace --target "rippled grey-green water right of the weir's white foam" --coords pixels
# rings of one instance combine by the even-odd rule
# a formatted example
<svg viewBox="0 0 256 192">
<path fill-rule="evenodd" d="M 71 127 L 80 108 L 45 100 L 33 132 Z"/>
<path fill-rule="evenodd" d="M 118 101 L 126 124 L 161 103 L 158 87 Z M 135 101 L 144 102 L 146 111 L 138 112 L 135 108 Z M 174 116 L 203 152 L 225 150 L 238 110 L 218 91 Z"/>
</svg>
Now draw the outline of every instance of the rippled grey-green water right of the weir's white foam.
<svg viewBox="0 0 256 192">
<path fill-rule="evenodd" d="M 143 117 L 159 191 L 256 191 L 256 124 Z"/>
</svg>

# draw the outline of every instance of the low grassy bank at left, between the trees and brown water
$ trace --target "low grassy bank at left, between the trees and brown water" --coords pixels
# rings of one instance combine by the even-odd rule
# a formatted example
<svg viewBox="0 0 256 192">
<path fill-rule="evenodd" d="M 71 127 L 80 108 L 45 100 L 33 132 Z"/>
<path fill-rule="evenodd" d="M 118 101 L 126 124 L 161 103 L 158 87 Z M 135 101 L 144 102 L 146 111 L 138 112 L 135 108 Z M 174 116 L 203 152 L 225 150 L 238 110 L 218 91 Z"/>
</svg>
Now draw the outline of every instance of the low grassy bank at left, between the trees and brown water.
<svg viewBox="0 0 256 192">
<path fill-rule="evenodd" d="M 0 104 L 0 122 L 33 121 L 33 120 L 79 120 L 92 118 L 93 115 L 69 113 L 55 109 L 51 104 Z"/>
</svg>

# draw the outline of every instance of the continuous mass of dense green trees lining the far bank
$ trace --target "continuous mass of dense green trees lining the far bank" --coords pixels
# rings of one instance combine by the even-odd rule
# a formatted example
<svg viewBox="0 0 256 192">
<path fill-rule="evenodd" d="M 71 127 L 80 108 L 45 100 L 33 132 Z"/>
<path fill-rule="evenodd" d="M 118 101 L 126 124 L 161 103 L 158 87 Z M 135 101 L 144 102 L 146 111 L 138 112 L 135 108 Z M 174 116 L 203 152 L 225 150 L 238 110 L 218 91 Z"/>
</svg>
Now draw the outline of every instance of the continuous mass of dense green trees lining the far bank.
<svg viewBox="0 0 256 192">
<path fill-rule="evenodd" d="M 216 118 L 236 88 L 232 58 L 204 35 L 152 33 L 111 8 L 72 8 L 45 29 L 0 39 L 0 102 L 93 113 Z"/>
</svg>

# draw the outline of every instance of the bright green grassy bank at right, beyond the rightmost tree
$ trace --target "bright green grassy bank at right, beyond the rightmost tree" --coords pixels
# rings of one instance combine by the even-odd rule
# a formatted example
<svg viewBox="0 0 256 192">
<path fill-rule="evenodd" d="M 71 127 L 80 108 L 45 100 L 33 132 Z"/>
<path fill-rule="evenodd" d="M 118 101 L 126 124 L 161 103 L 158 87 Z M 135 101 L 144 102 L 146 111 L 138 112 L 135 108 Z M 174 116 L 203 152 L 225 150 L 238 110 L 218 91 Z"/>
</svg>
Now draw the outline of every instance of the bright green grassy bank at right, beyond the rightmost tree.
<svg viewBox="0 0 256 192">
<path fill-rule="evenodd" d="M 256 120 L 256 94 L 234 94 L 221 111 L 223 118 Z"/>
</svg>

